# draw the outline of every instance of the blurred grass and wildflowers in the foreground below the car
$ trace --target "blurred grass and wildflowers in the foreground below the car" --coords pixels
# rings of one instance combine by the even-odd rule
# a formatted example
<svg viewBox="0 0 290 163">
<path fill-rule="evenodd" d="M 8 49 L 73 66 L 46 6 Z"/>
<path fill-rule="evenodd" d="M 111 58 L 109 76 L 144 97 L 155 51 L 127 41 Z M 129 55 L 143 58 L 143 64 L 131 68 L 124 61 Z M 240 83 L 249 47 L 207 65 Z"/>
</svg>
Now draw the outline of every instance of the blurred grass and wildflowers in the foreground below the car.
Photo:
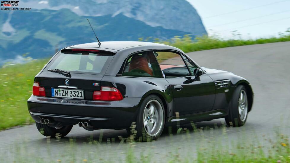
<svg viewBox="0 0 290 163">
<path fill-rule="evenodd" d="M 177 134 L 163 136 L 168 149 L 162 151 L 154 142 L 138 143 L 131 137 L 103 139 L 102 132 L 98 133 L 97 140 L 93 136 L 79 141 L 77 138 L 47 138 L 47 143 L 41 141 L 42 145 L 34 148 L 30 146 L 34 143 L 23 136 L 14 145 L 0 148 L 0 162 L 290 162 L 289 135 L 274 129 L 275 135 L 253 136 L 255 134 L 240 131 L 238 138 L 229 138 L 227 132 L 235 129 L 225 126 L 193 130 L 181 128 Z M 222 136 L 213 135 L 220 131 Z M 239 132 L 238 129 L 236 131 Z M 173 137 L 187 143 L 179 145 L 173 142 L 176 140 Z M 44 150 L 42 147 L 45 147 Z"/>
</svg>

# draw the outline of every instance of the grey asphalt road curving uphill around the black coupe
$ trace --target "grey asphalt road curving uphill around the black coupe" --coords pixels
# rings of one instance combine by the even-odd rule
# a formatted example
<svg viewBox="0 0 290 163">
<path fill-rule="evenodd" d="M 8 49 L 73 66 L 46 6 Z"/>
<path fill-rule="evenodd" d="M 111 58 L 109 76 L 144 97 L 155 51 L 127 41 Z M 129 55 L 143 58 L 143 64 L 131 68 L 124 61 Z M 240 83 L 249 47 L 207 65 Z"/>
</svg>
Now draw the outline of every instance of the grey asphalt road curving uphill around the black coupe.
<svg viewBox="0 0 290 163">
<path fill-rule="evenodd" d="M 224 119 L 198 122 L 198 128 L 214 127 L 214 124 L 217 126 L 213 130 L 198 133 L 190 132 L 173 136 L 163 134 L 155 142 L 137 143 L 134 147 L 135 154 L 149 152 L 153 154 L 152 157 L 158 158 L 155 160 L 162 160 L 174 149 L 186 156 L 188 151 L 195 151 L 196 146 L 207 138 L 229 144 L 240 139 L 249 142 L 250 140 L 262 141 L 264 137 L 274 138 L 275 131 L 278 129 L 283 134 L 290 135 L 290 42 L 204 50 L 191 52 L 188 55 L 202 67 L 230 71 L 250 81 L 255 96 L 254 106 L 246 124 L 243 127 L 224 128 L 222 127 Z M 98 149 L 98 156 L 109 160 L 125 158 L 124 152 L 129 145 L 128 143 L 120 145 L 118 140 L 118 136 L 126 135 L 125 130 L 89 132 L 74 126 L 67 137 L 76 139 L 76 150 L 80 154 L 77 157 L 82 158 L 82 149 L 96 151 L 94 146 L 84 143 L 88 142 L 89 138 L 99 140 L 100 133 L 103 133 L 103 144 L 107 143 L 108 138 L 115 138 L 115 143 L 111 142 L 110 146 L 102 145 L 102 148 Z M 0 150 L 2 153 L 13 151 L 22 144 L 32 153 L 45 157 L 49 147 L 51 153 L 49 157 L 54 160 L 66 150 L 68 138 L 50 140 L 47 144 L 47 139 L 37 131 L 36 126 L 29 125 L 0 132 Z M 14 154 L 8 152 L 8 155 Z"/>
</svg>

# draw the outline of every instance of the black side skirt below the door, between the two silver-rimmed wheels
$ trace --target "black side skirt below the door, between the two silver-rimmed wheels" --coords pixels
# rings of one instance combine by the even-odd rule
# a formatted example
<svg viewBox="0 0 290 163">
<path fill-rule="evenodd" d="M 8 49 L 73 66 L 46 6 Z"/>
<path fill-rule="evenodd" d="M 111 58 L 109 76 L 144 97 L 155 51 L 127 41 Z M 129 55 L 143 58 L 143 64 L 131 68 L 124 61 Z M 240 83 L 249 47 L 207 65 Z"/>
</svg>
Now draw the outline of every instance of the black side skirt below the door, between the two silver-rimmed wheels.
<svg viewBox="0 0 290 163">
<path fill-rule="evenodd" d="M 179 124 L 187 124 L 190 122 L 210 121 L 213 119 L 223 118 L 228 114 L 229 109 L 217 109 L 194 114 L 185 114 L 179 117 L 171 116 L 166 118 L 165 126 L 177 125 L 177 122 L 179 122 Z"/>
</svg>

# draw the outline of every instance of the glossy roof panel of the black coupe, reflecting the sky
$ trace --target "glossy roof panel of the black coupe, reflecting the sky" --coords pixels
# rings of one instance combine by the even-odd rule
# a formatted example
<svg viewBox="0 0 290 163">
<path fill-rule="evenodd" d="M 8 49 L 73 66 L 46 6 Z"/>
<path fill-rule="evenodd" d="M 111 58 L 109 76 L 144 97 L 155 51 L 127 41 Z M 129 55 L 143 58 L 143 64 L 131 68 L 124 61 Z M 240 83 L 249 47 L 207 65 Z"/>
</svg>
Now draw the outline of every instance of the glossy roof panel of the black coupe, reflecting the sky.
<svg viewBox="0 0 290 163">
<path fill-rule="evenodd" d="M 102 41 L 100 46 L 98 45 L 98 42 L 91 42 L 91 43 L 86 43 L 86 44 L 73 45 L 66 48 L 94 47 L 94 48 L 121 50 L 128 47 L 135 47 L 135 46 L 142 46 L 142 45 L 164 45 L 164 44 L 158 44 L 154 42 L 143 42 L 143 41 Z"/>
</svg>

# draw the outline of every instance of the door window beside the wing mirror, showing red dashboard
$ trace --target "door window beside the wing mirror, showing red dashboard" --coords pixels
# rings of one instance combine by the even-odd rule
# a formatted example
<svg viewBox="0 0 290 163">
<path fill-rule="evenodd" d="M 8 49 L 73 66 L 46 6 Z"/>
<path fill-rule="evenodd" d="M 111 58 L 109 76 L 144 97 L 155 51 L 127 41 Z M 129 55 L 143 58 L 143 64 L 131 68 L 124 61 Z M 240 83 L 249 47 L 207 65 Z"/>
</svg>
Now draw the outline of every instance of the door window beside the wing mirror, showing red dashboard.
<svg viewBox="0 0 290 163">
<path fill-rule="evenodd" d="M 190 76 L 189 70 L 179 54 L 162 50 L 154 51 L 154 53 L 165 77 Z"/>
</svg>

